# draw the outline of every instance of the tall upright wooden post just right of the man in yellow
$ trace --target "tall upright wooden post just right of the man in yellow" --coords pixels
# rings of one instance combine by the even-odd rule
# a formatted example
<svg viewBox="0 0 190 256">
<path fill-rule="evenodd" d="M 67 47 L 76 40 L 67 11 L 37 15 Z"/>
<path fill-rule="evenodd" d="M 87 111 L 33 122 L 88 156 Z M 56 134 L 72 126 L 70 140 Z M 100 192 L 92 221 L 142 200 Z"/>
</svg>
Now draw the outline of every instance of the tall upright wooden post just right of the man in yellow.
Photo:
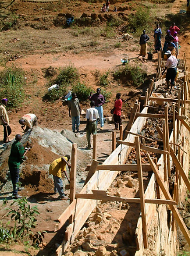
<svg viewBox="0 0 190 256">
<path fill-rule="evenodd" d="M 70 172 L 70 204 L 75 199 L 76 194 L 76 143 L 72 144 L 72 155 L 71 155 L 71 172 Z M 71 215 L 69 218 L 69 223 L 73 222 L 74 216 Z"/>
</svg>

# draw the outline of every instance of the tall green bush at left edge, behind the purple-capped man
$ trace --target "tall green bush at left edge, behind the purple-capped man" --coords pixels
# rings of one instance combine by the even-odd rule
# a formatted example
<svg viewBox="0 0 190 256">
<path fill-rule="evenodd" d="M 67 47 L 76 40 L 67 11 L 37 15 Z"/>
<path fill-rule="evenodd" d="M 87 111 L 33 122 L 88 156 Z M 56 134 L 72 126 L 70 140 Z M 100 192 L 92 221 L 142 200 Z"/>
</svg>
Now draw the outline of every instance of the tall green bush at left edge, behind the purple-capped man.
<svg viewBox="0 0 190 256">
<path fill-rule="evenodd" d="M 0 99 L 8 99 L 7 108 L 19 108 L 24 101 L 24 71 L 17 67 L 6 68 L 0 73 Z"/>
</svg>

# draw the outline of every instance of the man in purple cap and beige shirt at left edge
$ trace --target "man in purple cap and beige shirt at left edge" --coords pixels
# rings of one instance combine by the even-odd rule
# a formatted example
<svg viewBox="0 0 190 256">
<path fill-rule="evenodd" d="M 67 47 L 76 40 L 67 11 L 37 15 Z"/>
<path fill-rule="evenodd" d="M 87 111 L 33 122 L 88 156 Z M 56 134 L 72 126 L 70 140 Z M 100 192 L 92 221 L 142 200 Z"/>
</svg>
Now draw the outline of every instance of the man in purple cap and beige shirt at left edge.
<svg viewBox="0 0 190 256">
<path fill-rule="evenodd" d="M 4 127 L 4 138 L 3 141 L 4 142 L 9 142 L 8 136 L 11 134 L 11 127 L 9 126 L 9 117 L 7 115 L 7 110 L 6 110 L 6 106 L 7 106 L 7 102 L 8 99 L 2 99 L 1 100 L 1 105 L 0 105 L 0 124 Z"/>
</svg>

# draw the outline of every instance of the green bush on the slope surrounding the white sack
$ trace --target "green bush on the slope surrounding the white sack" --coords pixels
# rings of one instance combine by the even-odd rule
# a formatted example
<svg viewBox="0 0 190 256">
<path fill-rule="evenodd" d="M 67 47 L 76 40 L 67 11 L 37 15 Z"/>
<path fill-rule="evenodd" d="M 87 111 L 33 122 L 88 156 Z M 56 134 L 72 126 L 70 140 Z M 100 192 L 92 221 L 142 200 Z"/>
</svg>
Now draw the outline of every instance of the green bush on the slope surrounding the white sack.
<svg viewBox="0 0 190 256">
<path fill-rule="evenodd" d="M 67 90 L 70 84 L 76 84 L 79 81 L 79 74 L 76 67 L 73 65 L 69 65 L 68 67 L 64 67 L 60 70 L 58 76 L 53 81 L 47 84 L 49 88 L 51 85 L 58 84 L 58 89 L 52 89 L 51 91 L 47 92 L 43 100 L 47 101 L 55 101 L 64 97 L 67 94 Z"/>
</svg>

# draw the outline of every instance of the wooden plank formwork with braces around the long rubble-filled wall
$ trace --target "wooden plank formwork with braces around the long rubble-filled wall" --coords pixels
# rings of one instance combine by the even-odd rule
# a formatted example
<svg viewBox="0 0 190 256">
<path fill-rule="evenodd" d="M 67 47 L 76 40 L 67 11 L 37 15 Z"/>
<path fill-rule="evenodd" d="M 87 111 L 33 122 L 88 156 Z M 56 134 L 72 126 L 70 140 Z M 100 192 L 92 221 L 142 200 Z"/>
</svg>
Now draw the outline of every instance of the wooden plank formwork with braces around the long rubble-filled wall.
<svg viewBox="0 0 190 256">
<path fill-rule="evenodd" d="M 180 76 L 182 75 L 180 74 Z M 162 83 L 164 82 L 165 81 L 162 81 Z M 146 189 L 145 193 L 143 191 L 142 171 L 144 166 L 141 164 L 141 156 L 140 156 L 140 149 L 142 146 L 138 142 L 139 137 L 137 135 L 139 135 L 141 130 L 143 129 L 143 126 L 145 125 L 145 122 L 146 122 L 146 118 L 150 117 L 147 114 L 148 106 L 149 106 L 150 100 L 154 100 L 152 99 L 151 94 L 156 88 L 156 86 L 159 86 L 159 84 L 160 84 L 160 81 L 156 81 L 156 82 L 152 81 L 149 91 L 146 93 L 145 107 L 143 108 L 141 113 L 137 112 L 137 110 L 139 109 L 138 107 L 139 104 L 136 104 L 138 106 L 134 105 L 134 109 L 132 110 L 132 115 L 131 115 L 129 124 L 127 125 L 127 129 L 125 129 L 126 136 L 124 136 L 124 141 L 119 141 L 120 144 L 116 149 L 115 149 L 115 146 L 112 147 L 112 150 L 114 151 L 105 160 L 105 162 L 103 163 L 103 165 L 101 165 L 101 167 L 99 166 L 98 168 L 98 162 L 95 159 L 93 160 L 92 165 L 90 167 L 90 171 L 89 171 L 89 177 L 87 179 L 88 181 L 86 182 L 83 189 L 80 191 L 78 195 L 75 195 L 72 190 L 72 200 L 70 202 L 70 205 L 63 212 L 63 214 L 58 218 L 59 224 L 56 225 L 56 230 L 58 230 L 69 219 L 69 226 L 67 227 L 65 232 L 65 240 L 56 250 L 56 255 L 62 255 L 63 252 L 65 252 L 65 250 L 67 249 L 68 245 L 74 241 L 74 238 L 78 234 L 78 231 L 80 231 L 85 221 L 87 220 L 87 218 L 89 217 L 93 209 L 96 207 L 97 200 L 101 200 L 101 198 L 107 197 L 107 195 L 105 194 L 105 191 L 110 187 L 110 185 L 118 175 L 118 171 L 121 171 L 122 169 L 121 167 L 123 164 L 125 164 L 126 159 L 132 147 L 135 147 L 137 152 L 138 159 L 137 159 L 137 167 L 135 168 L 137 168 L 138 170 L 139 184 L 141 184 L 139 185 L 139 188 L 141 190 L 140 199 L 139 201 L 135 199 L 137 203 L 141 203 L 141 211 L 142 211 L 142 216 L 138 221 L 138 225 L 136 229 L 136 241 L 137 241 L 137 247 L 139 249 L 139 252 L 137 252 L 136 255 L 142 255 L 143 249 L 148 248 L 148 234 L 150 232 L 150 227 L 152 225 L 151 220 L 154 219 L 158 205 L 161 205 L 160 209 L 163 208 L 163 211 L 165 212 L 167 212 L 166 205 L 170 207 L 174 216 L 177 218 L 177 222 L 184 236 L 186 237 L 188 243 L 190 243 L 190 236 L 188 235 L 188 232 L 183 223 L 183 220 L 180 218 L 179 213 L 177 211 L 177 207 L 176 207 L 177 196 L 175 196 L 173 200 L 173 198 L 171 198 L 170 195 L 168 194 L 169 192 L 167 189 L 164 192 L 162 191 L 163 189 L 165 189 L 165 187 L 168 188 L 168 185 L 167 185 L 168 181 L 166 177 L 170 176 L 170 166 L 172 166 L 172 160 L 178 166 L 177 168 L 179 168 L 179 171 L 181 173 L 183 171 L 183 167 L 178 165 L 180 164 L 180 162 L 179 163 L 176 162 L 177 161 L 175 159 L 176 150 L 174 150 L 174 152 L 171 151 L 176 147 L 176 145 L 171 147 L 171 143 L 173 143 L 174 141 L 174 144 L 176 144 L 176 141 L 179 141 L 178 135 L 180 133 L 180 124 L 183 124 L 184 127 L 186 127 L 187 129 L 190 128 L 190 126 L 188 127 L 188 124 L 184 120 L 186 119 L 185 116 L 182 115 L 183 113 L 185 113 L 186 104 L 189 103 L 189 98 L 187 93 L 188 92 L 187 83 L 185 83 L 186 90 L 183 91 L 183 94 L 185 93 L 185 97 L 182 97 L 182 99 L 181 98 L 177 99 L 177 102 L 176 102 L 179 107 L 177 111 L 177 115 L 175 115 L 176 120 L 174 120 L 173 117 L 168 116 L 167 107 L 165 108 L 165 116 L 163 117 L 160 115 L 158 117 L 158 118 L 164 119 L 165 121 L 164 122 L 165 131 L 164 130 L 160 131 L 162 139 L 165 138 L 165 135 L 166 135 L 165 150 L 161 150 L 162 155 L 158 162 L 159 171 L 157 169 L 158 165 L 154 166 L 154 164 L 152 164 L 152 159 L 150 159 L 151 169 L 154 171 L 154 173 L 152 174 L 148 188 Z M 170 101 L 170 99 L 163 99 L 163 101 Z M 175 100 L 173 102 L 175 102 Z M 169 140 L 169 133 L 167 131 L 168 118 L 173 118 L 174 123 L 176 124 L 174 129 L 175 135 L 172 134 L 170 136 L 170 140 Z M 115 133 L 113 133 L 113 138 L 115 138 L 114 135 Z M 121 136 L 120 136 L 120 139 L 122 139 Z M 153 149 L 150 150 L 150 148 L 147 147 L 147 150 L 151 151 Z M 171 155 L 173 154 L 172 156 L 169 154 L 170 151 L 171 151 L 170 154 Z M 93 156 L 94 158 L 96 158 L 96 153 L 93 153 Z M 76 153 L 72 157 L 76 158 Z M 167 162 L 167 166 L 164 164 L 164 162 Z M 105 169 L 103 167 L 104 165 L 105 165 Z M 112 171 L 114 170 L 114 167 L 111 168 L 109 166 L 115 166 L 115 170 L 118 170 L 118 171 Z M 118 168 L 117 166 L 121 166 L 121 167 Z M 110 169 L 107 169 L 107 168 L 110 168 Z M 161 173 L 161 176 L 159 176 L 159 173 Z M 155 177 L 156 179 L 159 179 L 158 180 L 159 186 L 158 184 L 155 184 Z M 157 190 L 154 189 L 155 186 L 157 186 Z M 177 188 L 179 190 L 179 186 Z M 109 196 L 109 200 L 127 201 L 127 199 L 125 198 L 119 198 L 119 197 L 114 198 L 110 196 Z M 168 236 L 169 235 L 171 237 L 171 233 L 168 231 Z"/>
</svg>

